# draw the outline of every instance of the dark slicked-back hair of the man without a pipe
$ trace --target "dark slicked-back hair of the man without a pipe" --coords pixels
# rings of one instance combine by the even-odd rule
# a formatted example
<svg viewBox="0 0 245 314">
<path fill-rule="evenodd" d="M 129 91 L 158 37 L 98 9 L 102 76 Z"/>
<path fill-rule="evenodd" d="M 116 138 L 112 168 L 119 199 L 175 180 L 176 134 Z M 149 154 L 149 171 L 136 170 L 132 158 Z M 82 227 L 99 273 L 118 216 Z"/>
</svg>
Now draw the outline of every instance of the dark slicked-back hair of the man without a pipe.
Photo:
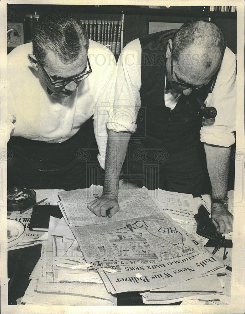
<svg viewBox="0 0 245 314">
<path fill-rule="evenodd" d="M 74 62 L 89 49 L 85 26 L 79 19 L 64 12 L 54 12 L 38 19 L 33 30 L 33 54 L 43 66 L 46 54 L 53 51 L 62 62 Z"/>
</svg>

